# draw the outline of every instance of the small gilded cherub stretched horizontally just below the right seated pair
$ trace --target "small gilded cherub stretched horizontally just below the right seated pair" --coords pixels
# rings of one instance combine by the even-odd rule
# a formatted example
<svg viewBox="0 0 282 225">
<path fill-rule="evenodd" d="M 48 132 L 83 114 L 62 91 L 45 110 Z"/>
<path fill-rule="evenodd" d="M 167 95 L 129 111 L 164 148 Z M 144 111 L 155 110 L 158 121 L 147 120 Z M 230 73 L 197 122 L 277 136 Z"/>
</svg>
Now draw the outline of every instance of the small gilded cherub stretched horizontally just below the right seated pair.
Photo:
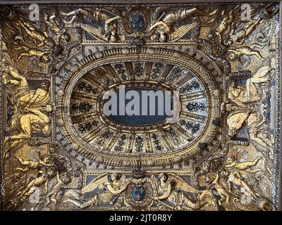
<svg viewBox="0 0 282 225">
<path fill-rule="evenodd" d="M 231 170 L 231 169 L 238 169 L 238 170 L 246 170 L 247 172 L 250 173 L 256 173 L 256 172 L 262 172 L 261 169 L 252 169 L 259 160 L 262 160 L 262 157 L 257 157 L 253 161 L 247 161 L 247 162 L 238 162 L 235 157 L 229 156 L 226 159 L 226 169 Z"/>
</svg>

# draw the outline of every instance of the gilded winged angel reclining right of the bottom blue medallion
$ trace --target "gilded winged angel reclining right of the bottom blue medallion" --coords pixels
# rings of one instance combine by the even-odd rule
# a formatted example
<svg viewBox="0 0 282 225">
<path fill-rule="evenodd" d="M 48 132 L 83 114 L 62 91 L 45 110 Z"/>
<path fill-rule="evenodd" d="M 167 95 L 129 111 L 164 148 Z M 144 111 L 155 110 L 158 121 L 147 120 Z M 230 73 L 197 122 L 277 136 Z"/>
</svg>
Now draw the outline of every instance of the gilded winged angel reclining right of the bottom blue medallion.
<svg viewBox="0 0 282 225">
<path fill-rule="evenodd" d="M 161 173 L 159 179 L 152 175 L 152 181 L 157 188 L 159 196 L 154 200 L 166 200 L 177 210 L 200 210 L 209 205 L 212 210 L 217 210 L 214 195 L 209 190 L 198 191 L 190 186 L 185 179 L 173 173 Z M 165 204 L 166 205 L 166 204 Z"/>
</svg>

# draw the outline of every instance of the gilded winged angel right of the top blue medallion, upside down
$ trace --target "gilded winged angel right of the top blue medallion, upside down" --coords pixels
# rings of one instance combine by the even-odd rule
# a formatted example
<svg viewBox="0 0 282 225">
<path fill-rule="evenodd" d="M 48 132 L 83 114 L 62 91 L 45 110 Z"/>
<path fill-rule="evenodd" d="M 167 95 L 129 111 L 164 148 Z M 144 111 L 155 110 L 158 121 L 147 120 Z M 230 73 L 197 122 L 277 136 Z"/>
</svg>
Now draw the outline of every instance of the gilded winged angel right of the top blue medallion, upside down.
<svg viewBox="0 0 282 225">
<path fill-rule="evenodd" d="M 211 13 L 206 13 L 199 8 L 184 8 L 166 14 L 165 9 L 159 7 L 154 13 L 153 25 L 149 27 L 149 34 L 147 36 L 151 36 L 151 39 L 157 39 L 159 42 L 178 41 L 190 30 L 197 27 L 198 23 L 202 23 L 200 17 L 213 17 L 217 11 L 215 9 Z M 163 13 L 161 14 L 161 12 Z M 185 20 L 194 18 L 197 19 L 197 22 L 176 27 L 176 25 L 183 23 Z M 207 21 L 204 20 L 203 23 L 207 23 Z"/>
</svg>

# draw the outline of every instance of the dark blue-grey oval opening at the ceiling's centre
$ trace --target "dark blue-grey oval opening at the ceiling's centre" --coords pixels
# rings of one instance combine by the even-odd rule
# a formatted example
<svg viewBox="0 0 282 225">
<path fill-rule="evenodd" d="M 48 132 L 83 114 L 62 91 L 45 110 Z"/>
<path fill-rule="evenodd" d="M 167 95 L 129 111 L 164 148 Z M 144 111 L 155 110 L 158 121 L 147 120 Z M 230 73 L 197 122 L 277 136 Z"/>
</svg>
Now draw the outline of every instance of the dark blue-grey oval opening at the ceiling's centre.
<svg viewBox="0 0 282 225">
<path fill-rule="evenodd" d="M 154 89 L 118 89 L 104 103 L 104 113 L 123 124 L 157 124 L 173 113 L 173 93 Z"/>
</svg>

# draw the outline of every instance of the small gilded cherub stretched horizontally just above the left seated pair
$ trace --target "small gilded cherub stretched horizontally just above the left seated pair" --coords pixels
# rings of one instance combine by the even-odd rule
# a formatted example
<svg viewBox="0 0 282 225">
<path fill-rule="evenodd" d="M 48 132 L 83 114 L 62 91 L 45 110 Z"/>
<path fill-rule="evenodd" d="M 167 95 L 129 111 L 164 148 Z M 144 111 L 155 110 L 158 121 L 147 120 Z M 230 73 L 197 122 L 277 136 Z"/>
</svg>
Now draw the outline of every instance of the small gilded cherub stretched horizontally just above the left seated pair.
<svg viewBox="0 0 282 225">
<path fill-rule="evenodd" d="M 16 62 L 23 58 L 24 56 L 37 56 L 42 63 L 48 63 L 50 61 L 50 54 L 52 51 L 43 51 L 40 49 L 30 48 L 29 46 L 19 46 L 15 48 L 16 50 L 23 50 L 18 58 L 16 58 Z"/>
</svg>

